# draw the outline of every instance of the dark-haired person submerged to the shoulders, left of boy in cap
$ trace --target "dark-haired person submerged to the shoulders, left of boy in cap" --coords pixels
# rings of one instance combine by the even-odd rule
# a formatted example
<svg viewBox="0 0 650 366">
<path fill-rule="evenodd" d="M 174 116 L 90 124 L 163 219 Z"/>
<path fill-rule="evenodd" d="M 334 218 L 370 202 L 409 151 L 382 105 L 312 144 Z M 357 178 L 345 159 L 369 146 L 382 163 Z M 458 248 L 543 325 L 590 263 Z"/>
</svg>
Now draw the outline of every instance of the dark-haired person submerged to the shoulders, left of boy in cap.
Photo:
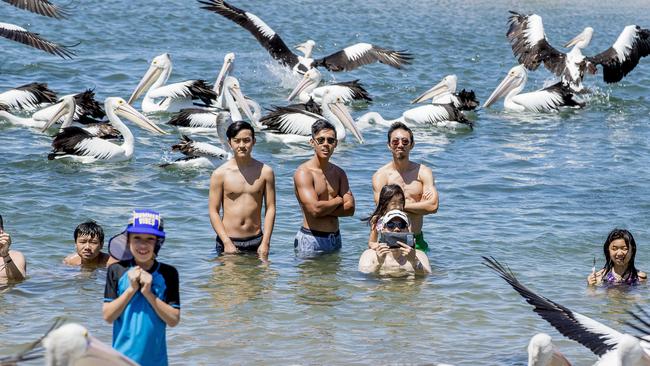
<svg viewBox="0 0 650 366">
<path fill-rule="evenodd" d="M 82 267 L 107 267 L 117 260 L 102 252 L 104 247 L 104 230 L 96 222 L 82 222 L 74 230 L 76 252 L 65 257 L 63 263 Z"/>
</svg>

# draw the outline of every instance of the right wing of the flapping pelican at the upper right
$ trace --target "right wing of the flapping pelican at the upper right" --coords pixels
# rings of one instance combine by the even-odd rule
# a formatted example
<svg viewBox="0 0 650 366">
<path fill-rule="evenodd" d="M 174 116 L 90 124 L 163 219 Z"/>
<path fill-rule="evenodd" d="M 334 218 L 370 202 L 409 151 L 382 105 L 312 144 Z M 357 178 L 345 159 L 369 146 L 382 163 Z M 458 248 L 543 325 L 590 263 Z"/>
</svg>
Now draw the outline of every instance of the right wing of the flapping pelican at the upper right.
<svg viewBox="0 0 650 366">
<path fill-rule="evenodd" d="M 650 30 L 628 25 L 618 36 L 614 45 L 587 60 L 602 65 L 606 83 L 621 81 L 639 63 L 641 57 L 650 54 Z"/>
</svg>

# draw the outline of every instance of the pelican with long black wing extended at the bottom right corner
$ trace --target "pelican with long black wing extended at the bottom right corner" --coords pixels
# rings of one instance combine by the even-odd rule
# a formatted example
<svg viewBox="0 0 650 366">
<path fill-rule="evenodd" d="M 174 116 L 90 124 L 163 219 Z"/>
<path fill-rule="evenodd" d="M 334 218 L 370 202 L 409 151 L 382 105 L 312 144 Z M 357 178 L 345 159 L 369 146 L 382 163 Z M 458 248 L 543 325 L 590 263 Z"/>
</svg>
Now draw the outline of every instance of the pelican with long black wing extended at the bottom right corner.
<svg viewBox="0 0 650 366">
<path fill-rule="evenodd" d="M 483 264 L 497 272 L 531 304 L 539 316 L 549 322 L 562 335 L 568 337 L 600 357 L 596 365 L 640 366 L 650 365 L 650 342 L 629 334 L 620 333 L 602 323 L 537 295 L 521 284 L 512 271 L 494 258 L 483 257 Z M 640 318 L 632 314 L 637 320 Z M 646 314 L 647 315 L 647 314 Z M 643 321 L 642 321 L 643 323 Z M 645 323 L 644 323 L 645 324 Z"/>
</svg>

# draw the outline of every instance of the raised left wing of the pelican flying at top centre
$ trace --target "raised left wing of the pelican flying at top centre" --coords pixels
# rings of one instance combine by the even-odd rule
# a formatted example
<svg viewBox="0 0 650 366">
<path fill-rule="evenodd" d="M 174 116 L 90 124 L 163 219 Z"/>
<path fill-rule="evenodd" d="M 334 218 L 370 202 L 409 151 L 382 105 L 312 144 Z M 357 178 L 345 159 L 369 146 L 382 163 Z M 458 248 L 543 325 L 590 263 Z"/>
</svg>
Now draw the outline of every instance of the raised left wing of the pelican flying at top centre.
<svg viewBox="0 0 650 366">
<path fill-rule="evenodd" d="M 204 5 L 202 9 L 223 15 L 244 27 L 269 51 L 271 57 L 282 65 L 293 67 L 298 63 L 298 56 L 291 52 L 282 38 L 257 15 L 236 8 L 223 0 L 199 0 L 199 3 Z"/>
</svg>

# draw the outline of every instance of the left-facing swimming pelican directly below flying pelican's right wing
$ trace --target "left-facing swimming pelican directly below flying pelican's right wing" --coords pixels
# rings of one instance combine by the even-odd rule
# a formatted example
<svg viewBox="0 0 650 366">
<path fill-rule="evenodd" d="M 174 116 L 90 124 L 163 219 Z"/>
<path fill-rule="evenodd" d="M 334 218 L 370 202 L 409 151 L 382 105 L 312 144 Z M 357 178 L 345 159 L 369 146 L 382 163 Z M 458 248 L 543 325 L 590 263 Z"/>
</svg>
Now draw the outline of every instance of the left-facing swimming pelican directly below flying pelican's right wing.
<svg viewBox="0 0 650 366">
<path fill-rule="evenodd" d="M 334 95 L 340 96 L 346 103 L 354 100 L 372 101 L 372 98 L 370 98 L 366 89 L 361 86 L 359 80 L 318 86 L 321 80 L 322 76 L 318 69 L 309 69 L 303 75 L 300 83 L 289 94 L 287 100 L 292 101 L 298 96 L 298 100 L 301 103 L 307 103 L 309 99 L 313 99 L 316 103 L 320 104 L 323 100 L 325 90 L 329 90 Z"/>
</svg>

